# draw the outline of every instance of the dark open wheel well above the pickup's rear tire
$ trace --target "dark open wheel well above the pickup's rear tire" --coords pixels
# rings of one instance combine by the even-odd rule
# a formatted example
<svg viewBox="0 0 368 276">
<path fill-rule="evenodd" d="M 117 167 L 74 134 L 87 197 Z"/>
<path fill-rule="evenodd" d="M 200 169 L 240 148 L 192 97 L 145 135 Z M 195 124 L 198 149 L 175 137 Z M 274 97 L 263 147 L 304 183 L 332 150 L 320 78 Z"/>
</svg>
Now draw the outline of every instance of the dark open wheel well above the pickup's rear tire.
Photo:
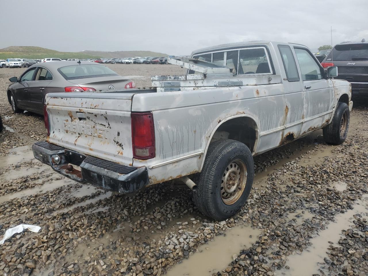
<svg viewBox="0 0 368 276">
<path fill-rule="evenodd" d="M 247 145 L 254 154 L 258 139 L 258 128 L 250 117 L 237 117 L 224 121 L 212 135 L 211 142 L 219 139 L 233 139 Z"/>
</svg>

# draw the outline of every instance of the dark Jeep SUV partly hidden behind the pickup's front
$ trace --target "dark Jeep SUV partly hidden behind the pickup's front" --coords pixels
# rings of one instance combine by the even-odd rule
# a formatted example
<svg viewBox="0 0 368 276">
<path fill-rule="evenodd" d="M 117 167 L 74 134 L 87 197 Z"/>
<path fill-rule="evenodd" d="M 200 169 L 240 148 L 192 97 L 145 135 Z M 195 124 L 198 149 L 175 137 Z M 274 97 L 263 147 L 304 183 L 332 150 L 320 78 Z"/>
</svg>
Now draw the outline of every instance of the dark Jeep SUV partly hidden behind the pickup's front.
<svg viewBox="0 0 368 276">
<path fill-rule="evenodd" d="M 342 42 L 335 45 L 321 63 L 337 66 L 339 79 L 351 83 L 352 92 L 368 92 L 368 42 Z"/>
</svg>

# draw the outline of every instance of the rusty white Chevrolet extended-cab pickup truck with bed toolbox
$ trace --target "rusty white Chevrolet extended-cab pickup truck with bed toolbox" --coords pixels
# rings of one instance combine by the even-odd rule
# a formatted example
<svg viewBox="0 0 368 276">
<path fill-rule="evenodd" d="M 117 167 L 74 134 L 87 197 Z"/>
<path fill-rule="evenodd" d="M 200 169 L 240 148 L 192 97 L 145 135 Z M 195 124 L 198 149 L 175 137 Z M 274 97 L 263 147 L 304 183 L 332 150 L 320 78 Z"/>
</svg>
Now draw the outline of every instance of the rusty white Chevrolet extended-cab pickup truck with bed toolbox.
<svg viewBox="0 0 368 276">
<path fill-rule="evenodd" d="M 123 194 L 184 182 L 202 213 L 223 220 L 250 194 L 254 155 L 319 128 L 329 144 L 346 138 L 351 85 L 303 45 L 226 44 L 168 62 L 188 74 L 154 76 L 150 89 L 47 94 L 35 158 Z"/>
</svg>

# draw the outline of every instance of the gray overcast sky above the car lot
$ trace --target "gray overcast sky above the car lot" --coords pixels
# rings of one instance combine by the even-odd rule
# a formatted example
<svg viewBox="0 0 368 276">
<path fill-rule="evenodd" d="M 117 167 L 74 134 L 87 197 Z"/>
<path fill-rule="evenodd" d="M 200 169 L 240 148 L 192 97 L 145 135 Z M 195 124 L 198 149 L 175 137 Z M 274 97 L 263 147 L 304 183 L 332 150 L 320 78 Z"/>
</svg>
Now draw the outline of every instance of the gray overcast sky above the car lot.
<svg viewBox="0 0 368 276">
<path fill-rule="evenodd" d="M 368 39 L 368 0 L 0 0 L 0 48 L 190 54 L 228 42 Z M 8 18 L 7 14 L 11 14 Z"/>
</svg>

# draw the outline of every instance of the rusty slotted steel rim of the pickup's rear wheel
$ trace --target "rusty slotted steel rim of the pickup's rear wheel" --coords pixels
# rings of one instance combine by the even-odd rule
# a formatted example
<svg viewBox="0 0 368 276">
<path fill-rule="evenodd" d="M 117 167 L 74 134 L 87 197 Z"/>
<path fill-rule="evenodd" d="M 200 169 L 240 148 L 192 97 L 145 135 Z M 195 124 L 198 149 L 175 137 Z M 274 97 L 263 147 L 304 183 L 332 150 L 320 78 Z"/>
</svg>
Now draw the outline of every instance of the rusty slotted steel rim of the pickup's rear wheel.
<svg viewBox="0 0 368 276">
<path fill-rule="evenodd" d="M 240 160 L 232 161 L 224 170 L 221 179 L 220 194 L 226 205 L 232 205 L 238 201 L 247 184 L 247 166 Z"/>
</svg>

